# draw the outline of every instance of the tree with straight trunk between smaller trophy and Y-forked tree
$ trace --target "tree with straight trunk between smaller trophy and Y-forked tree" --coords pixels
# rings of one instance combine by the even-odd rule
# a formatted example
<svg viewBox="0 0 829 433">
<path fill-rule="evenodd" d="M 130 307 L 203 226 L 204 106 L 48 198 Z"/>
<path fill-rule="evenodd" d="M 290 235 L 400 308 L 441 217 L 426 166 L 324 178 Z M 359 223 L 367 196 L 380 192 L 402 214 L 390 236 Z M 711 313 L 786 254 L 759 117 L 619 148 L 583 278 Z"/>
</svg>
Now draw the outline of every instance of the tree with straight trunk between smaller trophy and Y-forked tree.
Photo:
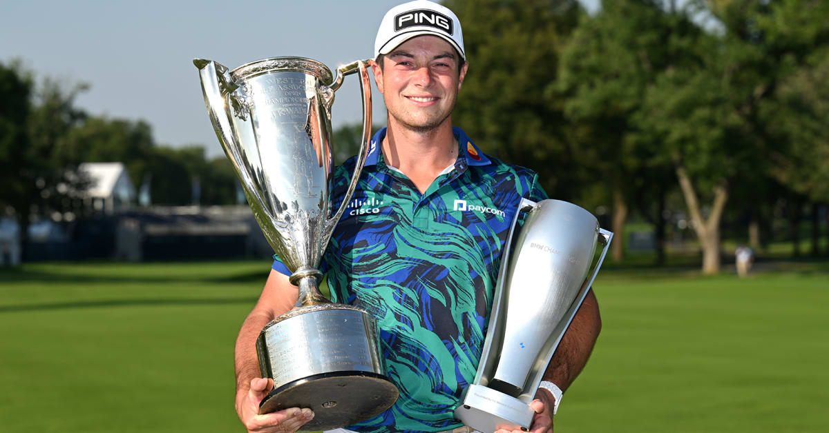
<svg viewBox="0 0 829 433">
<path fill-rule="evenodd" d="M 667 194 L 664 178 L 653 176 L 666 172 L 653 157 L 660 143 L 637 136 L 633 116 L 642 108 L 648 87 L 676 64 L 698 33 L 685 14 L 668 13 L 659 2 L 603 2 L 598 14 L 584 17 L 562 55 L 565 113 L 586 132 L 579 136 L 579 147 L 593 149 L 596 156 L 585 163 L 602 175 L 611 191 L 616 260 L 623 257 L 629 204 L 647 195 L 664 201 Z M 658 191 L 652 194 L 652 187 Z M 656 222 L 662 224 L 661 217 Z"/>
</svg>

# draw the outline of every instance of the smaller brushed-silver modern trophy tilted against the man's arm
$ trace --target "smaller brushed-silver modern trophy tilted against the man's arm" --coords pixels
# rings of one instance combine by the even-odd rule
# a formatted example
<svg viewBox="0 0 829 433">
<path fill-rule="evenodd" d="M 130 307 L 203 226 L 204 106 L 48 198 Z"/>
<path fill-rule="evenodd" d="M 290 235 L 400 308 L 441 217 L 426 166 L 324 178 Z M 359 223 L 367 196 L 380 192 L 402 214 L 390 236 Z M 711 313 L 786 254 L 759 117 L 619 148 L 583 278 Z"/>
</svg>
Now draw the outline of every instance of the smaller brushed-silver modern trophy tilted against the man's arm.
<svg viewBox="0 0 829 433">
<path fill-rule="evenodd" d="M 519 214 L 526 213 L 520 231 Z M 527 431 L 547 363 L 599 272 L 613 233 L 560 200 L 521 200 L 498 273 L 475 381 L 455 418 L 477 431 Z M 604 249 L 594 262 L 597 243 Z"/>
</svg>

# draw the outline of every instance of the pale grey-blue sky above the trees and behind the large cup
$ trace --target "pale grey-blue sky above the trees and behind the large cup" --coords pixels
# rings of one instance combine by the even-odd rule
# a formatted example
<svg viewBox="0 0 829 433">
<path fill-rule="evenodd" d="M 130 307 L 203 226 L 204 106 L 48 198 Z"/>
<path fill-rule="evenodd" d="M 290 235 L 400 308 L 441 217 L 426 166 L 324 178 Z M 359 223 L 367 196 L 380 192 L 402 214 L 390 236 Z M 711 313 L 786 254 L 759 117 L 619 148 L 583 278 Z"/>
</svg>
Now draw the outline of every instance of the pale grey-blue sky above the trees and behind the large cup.
<svg viewBox="0 0 829 433">
<path fill-rule="evenodd" d="M 598 1 L 584 4 L 594 10 Z M 202 145 L 208 156 L 218 156 L 194 58 L 233 69 L 296 55 L 333 70 L 374 54 L 377 26 L 400 2 L 3 0 L 0 61 L 22 60 L 37 77 L 67 86 L 90 84 L 75 101 L 87 113 L 144 120 L 159 145 Z M 385 123 L 382 95 L 373 85 L 373 118 Z M 350 75 L 337 91 L 332 124 L 361 118 L 360 87 Z"/>
</svg>

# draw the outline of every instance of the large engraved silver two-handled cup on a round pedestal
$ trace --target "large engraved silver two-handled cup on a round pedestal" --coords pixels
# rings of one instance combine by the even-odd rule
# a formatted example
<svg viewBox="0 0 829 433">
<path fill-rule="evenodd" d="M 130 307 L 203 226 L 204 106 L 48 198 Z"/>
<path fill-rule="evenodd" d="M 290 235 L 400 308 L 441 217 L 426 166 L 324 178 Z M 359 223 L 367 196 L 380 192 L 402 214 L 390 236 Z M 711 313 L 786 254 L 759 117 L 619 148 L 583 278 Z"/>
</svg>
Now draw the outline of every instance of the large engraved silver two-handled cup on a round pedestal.
<svg viewBox="0 0 829 433">
<path fill-rule="evenodd" d="M 366 310 L 333 304 L 318 289 L 331 233 L 360 177 L 371 137 L 366 60 L 337 69 L 315 60 L 276 57 L 228 70 L 193 60 L 216 136 L 239 176 L 270 246 L 299 287 L 293 310 L 256 341 L 259 370 L 274 388 L 259 413 L 308 407 L 306 431 L 330 430 L 385 411 L 398 397 L 385 377 L 376 324 Z M 331 108 L 346 75 L 361 78 L 363 135 L 351 184 L 332 212 Z"/>
</svg>

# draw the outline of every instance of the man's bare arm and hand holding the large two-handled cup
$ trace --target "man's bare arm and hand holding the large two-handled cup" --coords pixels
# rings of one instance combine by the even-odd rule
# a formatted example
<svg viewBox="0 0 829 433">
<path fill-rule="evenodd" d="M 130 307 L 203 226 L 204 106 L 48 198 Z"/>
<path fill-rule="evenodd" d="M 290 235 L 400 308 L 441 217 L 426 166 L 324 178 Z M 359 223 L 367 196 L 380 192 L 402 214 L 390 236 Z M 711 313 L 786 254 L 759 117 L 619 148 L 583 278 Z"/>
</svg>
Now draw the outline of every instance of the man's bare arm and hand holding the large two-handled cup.
<svg viewBox="0 0 829 433">
<path fill-rule="evenodd" d="M 293 308 L 299 296 L 297 286 L 288 281 L 288 276 L 270 271 L 259 301 L 245 318 L 235 346 L 236 371 L 236 413 L 248 431 L 297 431 L 313 418 L 310 409 L 291 407 L 266 415 L 259 415 L 262 401 L 273 383 L 260 378 L 259 358 L 256 356 L 256 338 L 259 331 L 278 315 Z"/>
</svg>

